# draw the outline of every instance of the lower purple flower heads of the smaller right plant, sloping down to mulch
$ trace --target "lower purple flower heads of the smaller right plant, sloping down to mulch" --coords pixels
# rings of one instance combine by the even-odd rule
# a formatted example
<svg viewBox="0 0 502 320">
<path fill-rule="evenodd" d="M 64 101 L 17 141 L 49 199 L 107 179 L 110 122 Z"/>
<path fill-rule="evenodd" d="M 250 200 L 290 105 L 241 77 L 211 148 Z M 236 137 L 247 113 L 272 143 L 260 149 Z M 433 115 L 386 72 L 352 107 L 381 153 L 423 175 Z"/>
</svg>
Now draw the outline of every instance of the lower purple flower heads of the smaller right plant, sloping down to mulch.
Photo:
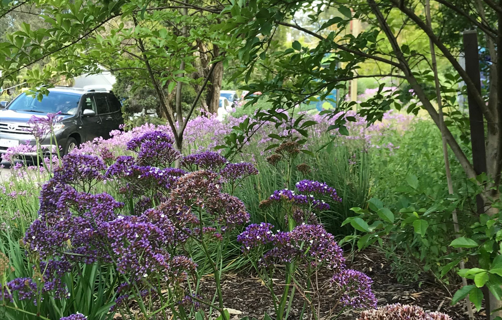
<svg viewBox="0 0 502 320">
<path fill-rule="evenodd" d="M 293 263 L 308 268 L 325 267 L 334 272 L 332 287 L 341 301 L 353 308 L 374 307 L 371 279 L 364 273 L 347 269 L 342 249 L 333 235 L 321 225 L 301 224 L 289 232 L 273 231 L 270 223 L 251 224 L 237 237 L 245 254 L 258 253 L 264 268 L 277 263 Z"/>
</svg>

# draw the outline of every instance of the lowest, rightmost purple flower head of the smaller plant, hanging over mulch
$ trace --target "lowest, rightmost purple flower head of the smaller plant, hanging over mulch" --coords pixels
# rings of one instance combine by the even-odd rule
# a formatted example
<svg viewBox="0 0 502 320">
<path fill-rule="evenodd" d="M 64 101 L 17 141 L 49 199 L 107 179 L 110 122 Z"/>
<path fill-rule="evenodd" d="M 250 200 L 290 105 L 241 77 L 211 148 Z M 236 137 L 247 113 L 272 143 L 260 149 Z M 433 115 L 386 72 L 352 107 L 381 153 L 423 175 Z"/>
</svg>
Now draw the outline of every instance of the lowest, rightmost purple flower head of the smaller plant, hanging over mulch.
<svg viewBox="0 0 502 320">
<path fill-rule="evenodd" d="M 376 298 L 371 291 L 373 281 L 364 273 L 343 269 L 331 278 L 331 285 L 341 293 L 341 302 L 352 308 L 374 308 Z"/>
</svg>

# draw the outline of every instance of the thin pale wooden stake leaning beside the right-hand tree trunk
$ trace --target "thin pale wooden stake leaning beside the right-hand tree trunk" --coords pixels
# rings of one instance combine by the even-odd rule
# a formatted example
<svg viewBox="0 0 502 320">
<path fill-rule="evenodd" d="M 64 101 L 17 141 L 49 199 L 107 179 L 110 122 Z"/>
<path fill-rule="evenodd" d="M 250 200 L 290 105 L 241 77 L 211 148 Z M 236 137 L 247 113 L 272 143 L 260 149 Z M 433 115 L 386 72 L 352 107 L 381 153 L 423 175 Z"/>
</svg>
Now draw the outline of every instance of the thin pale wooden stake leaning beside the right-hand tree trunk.
<svg viewBox="0 0 502 320">
<path fill-rule="evenodd" d="M 431 6 L 430 0 L 425 1 L 425 13 L 427 19 L 427 25 L 431 27 Z M 453 194 L 453 181 L 451 180 L 451 170 L 450 170 L 450 161 L 448 159 L 448 145 L 446 142 L 445 135 L 445 124 L 444 124 L 444 115 L 443 115 L 443 103 L 441 100 L 441 86 L 439 84 L 438 77 L 438 69 L 436 62 L 436 51 L 434 47 L 434 43 L 432 39 L 429 39 L 429 46 L 431 50 L 431 60 L 432 60 L 432 72 L 434 73 L 434 81 L 436 85 L 436 96 L 437 96 L 437 104 L 438 104 L 438 113 L 439 113 L 439 130 L 441 131 L 441 141 L 443 144 L 443 158 L 444 158 L 444 169 L 446 172 L 446 183 L 448 185 L 448 193 L 450 195 Z M 459 227 L 458 227 L 458 218 L 456 211 L 453 211 L 451 214 L 451 218 L 453 220 L 453 230 L 455 231 L 455 237 L 459 237 Z M 460 261 L 460 268 L 464 269 L 464 261 Z M 467 285 L 467 279 L 462 278 L 462 284 Z M 472 305 L 470 303 L 469 297 L 465 297 L 465 303 L 467 304 L 467 312 L 469 313 L 469 319 L 474 319 L 474 312 L 472 311 Z"/>
</svg>

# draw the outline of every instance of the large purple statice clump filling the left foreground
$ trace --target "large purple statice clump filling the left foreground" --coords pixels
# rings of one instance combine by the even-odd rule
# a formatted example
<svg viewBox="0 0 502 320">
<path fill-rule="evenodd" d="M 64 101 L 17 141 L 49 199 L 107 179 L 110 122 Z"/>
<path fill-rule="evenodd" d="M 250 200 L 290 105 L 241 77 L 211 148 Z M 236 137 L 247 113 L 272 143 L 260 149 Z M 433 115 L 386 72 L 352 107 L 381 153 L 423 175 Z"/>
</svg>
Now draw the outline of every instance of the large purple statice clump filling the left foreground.
<svg viewBox="0 0 502 320">
<path fill-rule="evenodd" d="M 207 163 L 207 169 L 228 168 L 223 173 L 171 168 L 180 155 L 162 132 L 138 136 L 128 147 L 135 154 L 118 157 L 110 166 L 96 155 L 70 153 L 61 159 L 42 188 L 38 218 L 21 241 L 33 276 L 3 277 L 2 303 L 19 310 L 20 300 L 40 305 L 66 299 L 73 290 L 64 279 L 87 265 L 109 274 L 109 308 L 103 312 L 130 315 L 131 303 L 145 317 L 160 313 L 168 318 L 169 313 L 191 319 L 203 312 L 202 306 L 222 312 L 223 247 L 233 229 L 249 222 L 242 201 L 225 190 L 258 172 L 226 159 L 223 166 Z M 226 186 L 229 181 L 232 187 Z M 118 191 L 117 199 L 94 193 L 103 183 Z M 202 261 L 214 276 L 213 297 L 200 295 L 203 273 L 192 258 L 196 251 L 205 255 Z M 2 266 L 8 270 L 6 263 Z"/>
</svg>

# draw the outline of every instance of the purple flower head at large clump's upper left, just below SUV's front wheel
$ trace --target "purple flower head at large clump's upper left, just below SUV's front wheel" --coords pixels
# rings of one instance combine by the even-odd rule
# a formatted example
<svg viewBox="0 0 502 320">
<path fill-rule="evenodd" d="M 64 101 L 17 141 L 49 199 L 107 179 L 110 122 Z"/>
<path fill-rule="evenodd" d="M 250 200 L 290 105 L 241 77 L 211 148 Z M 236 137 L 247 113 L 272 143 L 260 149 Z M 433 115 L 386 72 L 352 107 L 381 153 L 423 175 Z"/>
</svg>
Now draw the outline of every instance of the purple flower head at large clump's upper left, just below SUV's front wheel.
<svg viewBox="0 0 502 320">
<path fill-rule="evenodd" d="M 106 165 L 96 155 L 69 153 L 61 160 L 61 167 L 54 171 L 54 179 L 67 184 L 88 185 L 104 180 Z"/>
</svg>

